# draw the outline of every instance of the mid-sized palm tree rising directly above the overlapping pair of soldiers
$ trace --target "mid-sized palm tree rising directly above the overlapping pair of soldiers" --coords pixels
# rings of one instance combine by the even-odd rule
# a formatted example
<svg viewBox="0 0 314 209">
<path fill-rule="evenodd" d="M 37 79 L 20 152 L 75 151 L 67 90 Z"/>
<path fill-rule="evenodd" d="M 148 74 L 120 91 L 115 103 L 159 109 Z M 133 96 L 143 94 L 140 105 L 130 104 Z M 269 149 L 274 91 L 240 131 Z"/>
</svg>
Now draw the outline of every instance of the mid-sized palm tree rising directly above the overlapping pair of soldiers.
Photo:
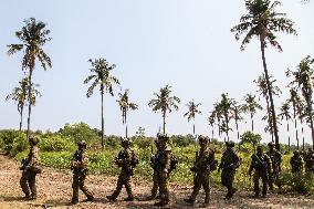
<svg viewBox="0 0 314 209">
<path fill-rule="evenodd" d="M 172 107 L 178 111 L 178 104 L 180 103 L 180 98 L 177 96 L 170 96 L 171 94 L 171 86 L 166 85 L 165 87 L 161 87 L 158 93 L 154 93 L 154 96 L 156 98 L 153 98 L 149 101 L 148 106 L 153 108 L 154 112 L 161 112 L 163 115 L 163 133 L 166 133 L 166 116 L 167 112 L 171 113 Z"/>
</svg>

